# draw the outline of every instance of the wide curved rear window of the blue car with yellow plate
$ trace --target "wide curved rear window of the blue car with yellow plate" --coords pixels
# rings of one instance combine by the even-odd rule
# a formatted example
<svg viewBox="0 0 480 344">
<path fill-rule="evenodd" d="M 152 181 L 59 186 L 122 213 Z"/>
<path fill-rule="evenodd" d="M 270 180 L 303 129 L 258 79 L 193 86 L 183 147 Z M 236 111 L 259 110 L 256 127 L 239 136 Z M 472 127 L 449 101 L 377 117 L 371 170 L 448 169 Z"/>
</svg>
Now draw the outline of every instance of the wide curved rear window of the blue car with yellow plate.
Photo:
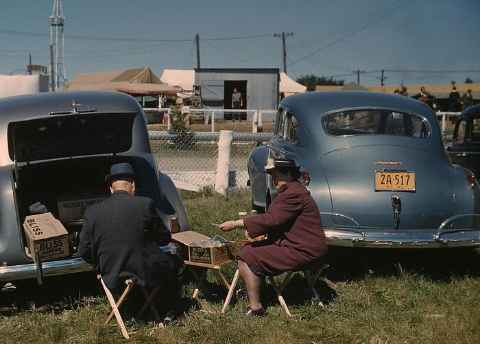
<svg viewBox="0 0 480 344">
<path fill-rule="evenodd" d="M 425 119 L 389 110 L 350 110 L 324 116 L 323 125 L 334 136 L 389 134 L 425 138 L 430 136 Z"/>
</svg>

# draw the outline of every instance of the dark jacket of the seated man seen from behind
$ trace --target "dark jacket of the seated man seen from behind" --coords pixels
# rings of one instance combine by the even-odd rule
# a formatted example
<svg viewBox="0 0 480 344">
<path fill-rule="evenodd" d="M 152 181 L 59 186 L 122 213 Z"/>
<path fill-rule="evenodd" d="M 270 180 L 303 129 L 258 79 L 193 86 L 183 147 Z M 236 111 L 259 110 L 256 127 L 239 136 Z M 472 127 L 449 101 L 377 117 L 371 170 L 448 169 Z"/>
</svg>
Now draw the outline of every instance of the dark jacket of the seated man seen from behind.
<svg viewBox="0 0 480 344">
<path fill-rule="evenodd" d="M 86 209 L 78 253 L 109 288 L 128 278 L 140 286 L 161 286 L 175 275 L 173 259 L 158 248 L 170 240 L 154 201 L 120 190 Z"/>
</svg>

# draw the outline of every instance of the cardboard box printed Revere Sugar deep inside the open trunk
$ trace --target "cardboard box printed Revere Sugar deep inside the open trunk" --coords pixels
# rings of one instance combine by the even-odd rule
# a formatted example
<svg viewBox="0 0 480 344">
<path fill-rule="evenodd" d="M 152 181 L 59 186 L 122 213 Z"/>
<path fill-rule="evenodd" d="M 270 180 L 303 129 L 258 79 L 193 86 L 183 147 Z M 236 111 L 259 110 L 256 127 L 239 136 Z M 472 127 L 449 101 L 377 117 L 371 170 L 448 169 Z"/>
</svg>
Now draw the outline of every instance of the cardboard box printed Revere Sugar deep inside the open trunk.
<svg viewBox="0 0 480 344">
<path fill-rule="evenodd" d="M 85 209 L 92 204 L 106 199 L 102 194 L 62 195 L 57 199 L 58 217 L 62 222 L 81 221 Z"/>
</svg>

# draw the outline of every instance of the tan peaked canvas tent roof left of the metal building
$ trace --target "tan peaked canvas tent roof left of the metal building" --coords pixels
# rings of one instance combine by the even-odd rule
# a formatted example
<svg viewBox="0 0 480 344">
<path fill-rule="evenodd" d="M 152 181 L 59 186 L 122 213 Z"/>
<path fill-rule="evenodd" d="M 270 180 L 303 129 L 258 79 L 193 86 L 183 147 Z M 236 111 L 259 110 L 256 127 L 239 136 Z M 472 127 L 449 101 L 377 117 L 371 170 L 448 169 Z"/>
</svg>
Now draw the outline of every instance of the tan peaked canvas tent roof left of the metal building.
<svg viewBox="0 0 480 344">
<path fill-rule="evenodd" d="M 148 68 L 79 74 L 65 87 L 67 90 L 117 90 L 129 95 L 175 95 L 179 88 L 158 79 Z"/>
</svg>

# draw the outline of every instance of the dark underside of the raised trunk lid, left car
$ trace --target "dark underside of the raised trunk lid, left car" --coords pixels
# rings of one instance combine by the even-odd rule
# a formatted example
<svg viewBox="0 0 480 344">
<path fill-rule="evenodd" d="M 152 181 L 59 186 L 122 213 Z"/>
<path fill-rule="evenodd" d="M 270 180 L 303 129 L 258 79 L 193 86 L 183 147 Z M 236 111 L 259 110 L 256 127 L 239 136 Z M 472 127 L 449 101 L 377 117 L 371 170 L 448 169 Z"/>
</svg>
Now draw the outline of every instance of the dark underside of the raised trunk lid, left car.
<svg viewBox="0 0 480 344">
<path fill-rule="evenodd" d="M 132 147 L 136 112 L 52 114 L 8 123 L 8 154 L 32 162 L 104 153 Z"/>
</svg>

